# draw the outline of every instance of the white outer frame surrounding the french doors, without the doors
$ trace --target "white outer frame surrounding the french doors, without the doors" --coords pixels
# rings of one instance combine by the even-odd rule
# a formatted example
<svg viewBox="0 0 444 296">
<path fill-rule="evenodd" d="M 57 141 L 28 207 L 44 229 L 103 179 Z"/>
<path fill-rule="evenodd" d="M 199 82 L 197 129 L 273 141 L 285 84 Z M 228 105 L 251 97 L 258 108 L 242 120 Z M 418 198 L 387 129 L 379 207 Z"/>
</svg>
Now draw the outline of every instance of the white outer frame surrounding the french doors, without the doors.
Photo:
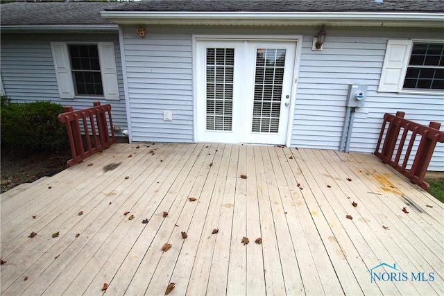
<svg viewBox="0 0 444 296">
<path fill-rule="evenodd" d="M 212 42 L 212 41 L 241 41 L 241 40 L 248 40 L 248 41 L 264 41 L 264 42 L 273 42 L 273 41 L 293 41 L 296 42 L 296 57 L 295 57 L 295 67 L 293 71 L 293 81 L 292 87 L 291 87 L 291 96 L 290 96 L 290 112 L 289 112 L 289 119 L 287 123 L 287 137 L 286 137 L 286 146 L 291 145 L 291 134 L 293 129 L 293 119 L 294 119 L 294 108 L 296 105 L 296 88 L 297 88 L 297 81 L 298 81 L 298 73 L 299 73 L 299 64 L 300 64 L 300 55 L 302 50 L 302 35 L 192 35 L 192 53 L 193 53 L 193 116 L 194 116 L 194 142 L 198 142 L 200 139 L 198 139 L 198 125 L 197 125 L 197 116 L 198 116 L 198 77 L 197 77 L 197 42 L 198 41 L 205 41 L 205 42 Z"/>
</svg>

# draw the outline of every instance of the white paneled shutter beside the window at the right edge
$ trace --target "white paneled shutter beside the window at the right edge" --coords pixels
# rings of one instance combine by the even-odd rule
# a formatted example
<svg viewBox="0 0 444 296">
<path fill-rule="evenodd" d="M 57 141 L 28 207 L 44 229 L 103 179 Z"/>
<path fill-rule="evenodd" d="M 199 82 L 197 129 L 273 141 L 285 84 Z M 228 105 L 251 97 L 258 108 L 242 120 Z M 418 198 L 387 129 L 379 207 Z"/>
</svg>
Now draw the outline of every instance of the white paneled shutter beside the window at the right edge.
<svg viewBox="0 0 444 296">
<path fill-rule="evenodd" d="M 411 40 L 388 40 L 378 92 L 399 92 L 409 62 Z"/>
</svg>

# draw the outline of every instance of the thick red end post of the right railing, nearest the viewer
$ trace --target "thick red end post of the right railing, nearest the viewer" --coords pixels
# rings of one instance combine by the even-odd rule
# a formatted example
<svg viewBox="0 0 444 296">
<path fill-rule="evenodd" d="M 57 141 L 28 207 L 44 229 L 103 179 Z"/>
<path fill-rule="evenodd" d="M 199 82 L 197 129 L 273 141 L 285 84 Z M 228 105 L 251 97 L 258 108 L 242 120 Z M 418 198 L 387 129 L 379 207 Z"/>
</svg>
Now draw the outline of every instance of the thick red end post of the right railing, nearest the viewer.
<svg viewBox="0 0 444 296">
<path fill-rule="evenodd" d="M 432 121 L 429 123 L 429 128 L 434 128 L 439 130 L 441 123 Z M 424 134 L 422 134 L 421 141 L 418 146 L 418 151 L 416 152 L 415 159 L 413 159 L 413 164 L 410 170 L 410 180 L 413 183 L 421 184 L 425 189 L 429 189 L 430 185 L 424 182 L 425 173 L 427 173 L 427 167 L 429 166 L 430 159 L 434 149 L 436 147 L 436 142 L 438 141 L 438 134 L 431 134 L 434 131 L 432 129 L 427 129 Z"/>
</svg>

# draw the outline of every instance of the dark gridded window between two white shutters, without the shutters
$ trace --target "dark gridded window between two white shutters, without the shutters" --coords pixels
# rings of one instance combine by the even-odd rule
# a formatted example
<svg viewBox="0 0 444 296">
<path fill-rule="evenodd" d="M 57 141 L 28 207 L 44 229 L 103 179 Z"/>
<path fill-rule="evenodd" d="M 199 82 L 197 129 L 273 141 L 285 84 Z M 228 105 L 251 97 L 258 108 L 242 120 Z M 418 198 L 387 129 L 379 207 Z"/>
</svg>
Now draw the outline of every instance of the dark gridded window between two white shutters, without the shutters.
<svg viewBox="0 0 444 296">
<path fill-rule="evenodd" d="M 103 96 L 97 46 L 70 44 L 68 48 L 76 95 Z"/>
</svg>

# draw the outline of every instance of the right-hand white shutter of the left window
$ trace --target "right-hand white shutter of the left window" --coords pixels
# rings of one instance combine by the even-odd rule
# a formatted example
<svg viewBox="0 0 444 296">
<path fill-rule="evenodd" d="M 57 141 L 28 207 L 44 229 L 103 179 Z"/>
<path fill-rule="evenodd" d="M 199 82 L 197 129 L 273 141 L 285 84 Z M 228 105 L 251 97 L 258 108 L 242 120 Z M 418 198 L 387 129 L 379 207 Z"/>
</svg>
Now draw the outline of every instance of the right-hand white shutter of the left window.
<svg viewBox="0 0 444 296">
<path fill-rule="evenodd" d="M 100 69 L 102 72 L 103 95 L 107 100 L 119 100 L 119 85 L 117 84 L 116 60 L 114 44 L 101 42 L 98 44 Z"/>
</svg>

